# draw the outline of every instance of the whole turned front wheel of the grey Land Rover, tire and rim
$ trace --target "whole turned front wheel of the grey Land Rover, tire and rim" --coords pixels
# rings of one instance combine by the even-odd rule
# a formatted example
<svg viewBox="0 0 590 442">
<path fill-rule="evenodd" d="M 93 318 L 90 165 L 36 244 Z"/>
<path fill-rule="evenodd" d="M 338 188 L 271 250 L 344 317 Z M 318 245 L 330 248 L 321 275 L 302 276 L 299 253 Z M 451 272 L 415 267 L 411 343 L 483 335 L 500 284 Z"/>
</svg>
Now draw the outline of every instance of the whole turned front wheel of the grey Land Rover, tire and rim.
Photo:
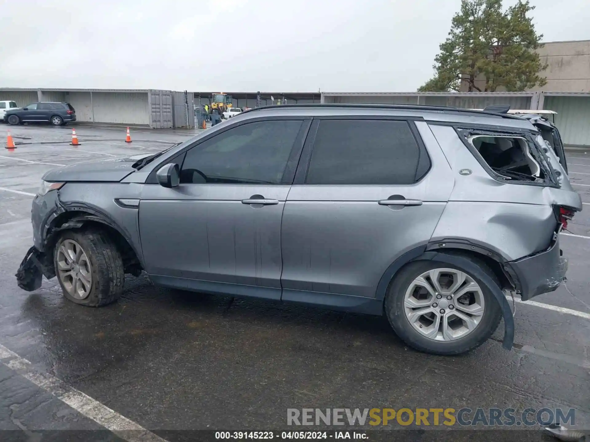
<svg viewBox="0 0 590 442">
<path fill-rule="evenodd" d="M 55 244 L 54 265 L 64 297 L 76 304 L 100 307 L 123 293 L 123 259 L 100 230 L 65 230 Z"/>
</svg>

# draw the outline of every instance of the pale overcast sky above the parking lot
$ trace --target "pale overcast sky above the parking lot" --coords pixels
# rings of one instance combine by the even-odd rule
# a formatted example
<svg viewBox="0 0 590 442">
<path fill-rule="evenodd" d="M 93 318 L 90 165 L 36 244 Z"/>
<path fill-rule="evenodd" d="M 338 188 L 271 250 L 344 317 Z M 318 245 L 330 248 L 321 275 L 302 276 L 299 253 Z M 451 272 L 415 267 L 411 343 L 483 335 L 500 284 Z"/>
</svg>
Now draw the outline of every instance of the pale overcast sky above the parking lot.
<svg viewBox="0 0 590 442">
<path fill-rule="evenodd" d="M 590 1 L 531 3 L 544 41 L 590 39 Z M 0 87 L 414 91 L 431 77 L 459 6 L 460 0 L 0 0 Z"/>
</svg>

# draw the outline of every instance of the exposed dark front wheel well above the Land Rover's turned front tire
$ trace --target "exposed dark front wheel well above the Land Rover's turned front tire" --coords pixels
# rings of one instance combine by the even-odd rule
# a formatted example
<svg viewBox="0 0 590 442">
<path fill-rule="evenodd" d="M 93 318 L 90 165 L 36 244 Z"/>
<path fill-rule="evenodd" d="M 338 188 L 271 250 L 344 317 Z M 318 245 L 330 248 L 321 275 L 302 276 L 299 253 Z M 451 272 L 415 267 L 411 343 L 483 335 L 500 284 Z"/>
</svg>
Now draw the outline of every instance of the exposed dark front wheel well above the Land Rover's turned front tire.
<svg viewBox="0 0 590 442">
<path fill-rule="evenodd" d="M 142 265 L 137 258 L 137 253 L 124 236 L 112 226 L 101 222 L 99 217 L 91 213 L 72 211 L 65 212 L 58 215 L 51 223 L 50 230 L 47 234 L 47 242 L 45 243 L 45 250 L 51 255 L 53 263 L 53 248 L 57 242 L 60 232 L 67 229 L 95 229 L 104 232 L 112 239 L 116 245 L 117 250 L 123 259 L 123 266 L 125 273 L 139 276 L 142 271 Z"/>
</svg>

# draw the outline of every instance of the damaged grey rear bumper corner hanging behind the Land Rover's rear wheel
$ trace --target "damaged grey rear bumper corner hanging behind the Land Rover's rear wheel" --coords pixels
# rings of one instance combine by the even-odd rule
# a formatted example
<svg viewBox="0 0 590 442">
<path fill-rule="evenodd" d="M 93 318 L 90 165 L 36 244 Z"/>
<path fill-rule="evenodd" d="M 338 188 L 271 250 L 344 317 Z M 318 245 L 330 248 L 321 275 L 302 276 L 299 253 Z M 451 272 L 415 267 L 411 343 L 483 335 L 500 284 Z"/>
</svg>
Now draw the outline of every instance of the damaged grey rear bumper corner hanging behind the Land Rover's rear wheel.
<svg viewBox="0 0 590 442">
<path fill-rule="evenodd" d="M 555 291 L 566 281 L 568 259 L 559 248 L 559 232 L 549 249 L 507 263 L 514 272 L 523 301 Z"/>
</svg>

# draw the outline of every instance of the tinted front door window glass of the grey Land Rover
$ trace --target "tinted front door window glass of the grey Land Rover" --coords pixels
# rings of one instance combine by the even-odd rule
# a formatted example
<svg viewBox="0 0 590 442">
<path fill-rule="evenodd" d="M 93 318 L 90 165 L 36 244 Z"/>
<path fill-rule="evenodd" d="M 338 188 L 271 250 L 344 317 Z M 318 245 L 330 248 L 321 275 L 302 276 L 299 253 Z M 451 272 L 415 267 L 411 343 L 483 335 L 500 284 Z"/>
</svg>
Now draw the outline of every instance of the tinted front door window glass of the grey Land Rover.
<svg viewBox="0 0 590 442">
<path fill-rule="evenodd" d="M 186 152 L 181 183 L 280 184 L 301 120 L 231 128 Z"/>
</svg>

